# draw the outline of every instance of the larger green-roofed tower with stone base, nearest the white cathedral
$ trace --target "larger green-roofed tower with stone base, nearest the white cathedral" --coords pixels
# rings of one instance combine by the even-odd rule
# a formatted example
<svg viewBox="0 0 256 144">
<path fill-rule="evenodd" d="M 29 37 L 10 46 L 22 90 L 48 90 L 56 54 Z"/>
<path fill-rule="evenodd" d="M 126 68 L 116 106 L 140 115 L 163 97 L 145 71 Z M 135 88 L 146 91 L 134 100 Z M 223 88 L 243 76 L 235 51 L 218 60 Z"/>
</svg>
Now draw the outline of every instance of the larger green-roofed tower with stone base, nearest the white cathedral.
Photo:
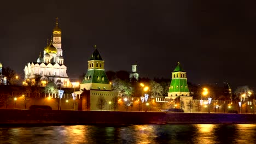
<svg viewBox="0 0 256 144">
<path fill-rule="evenodd" d="M 83 91 L 81 110 L 100 110 L 97 107 L 97 101 L 100 97 L 108 103 L 112 101 L 113 97 L 118 96 L 118 92 L 112 91 L 111 83 L 104 70 L 104 61 L 96 49 L 96 45 L 95 51 L 88 61 L 88 71 L 80 84 L 80 89 Z M 75 93 L 79 94 L 78 92 Z"/>
</svg>

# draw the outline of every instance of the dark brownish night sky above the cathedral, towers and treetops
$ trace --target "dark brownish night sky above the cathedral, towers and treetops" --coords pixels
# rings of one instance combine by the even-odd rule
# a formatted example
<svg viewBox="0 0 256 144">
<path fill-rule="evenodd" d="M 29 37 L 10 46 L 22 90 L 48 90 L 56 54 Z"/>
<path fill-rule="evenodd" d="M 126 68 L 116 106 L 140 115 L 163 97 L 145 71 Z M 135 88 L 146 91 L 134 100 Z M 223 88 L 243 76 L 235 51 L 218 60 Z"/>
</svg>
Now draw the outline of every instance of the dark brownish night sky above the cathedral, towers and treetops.
<svg viewBox="0 0 256 144">
<path fill-rule="evenodd" d="M 256 88 L 256 3 L 253 1 L 3 1 L 0 62 L 20 75 L 36 61 L 60 18 L 71 79 L 97 49 L 106 70 L 171 78 L 177 62 L 198 83 Z M 256 89 L 254 89 L 256 91 Z"/>
</svg>

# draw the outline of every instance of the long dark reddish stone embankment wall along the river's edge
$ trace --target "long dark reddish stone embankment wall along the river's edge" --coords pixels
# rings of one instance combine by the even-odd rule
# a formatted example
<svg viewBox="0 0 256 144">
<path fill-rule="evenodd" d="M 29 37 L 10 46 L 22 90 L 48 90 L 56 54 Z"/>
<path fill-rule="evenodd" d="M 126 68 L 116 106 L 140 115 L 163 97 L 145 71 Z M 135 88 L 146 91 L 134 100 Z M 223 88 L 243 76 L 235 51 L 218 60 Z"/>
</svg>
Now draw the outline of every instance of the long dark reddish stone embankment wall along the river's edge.
<svg viewBox="0 0 256 144">
<path fill-rule="evenodd" d="M 256 123 L 256 115 L 126 111 L 0 110 L 0 124 Z"/>
</svg>

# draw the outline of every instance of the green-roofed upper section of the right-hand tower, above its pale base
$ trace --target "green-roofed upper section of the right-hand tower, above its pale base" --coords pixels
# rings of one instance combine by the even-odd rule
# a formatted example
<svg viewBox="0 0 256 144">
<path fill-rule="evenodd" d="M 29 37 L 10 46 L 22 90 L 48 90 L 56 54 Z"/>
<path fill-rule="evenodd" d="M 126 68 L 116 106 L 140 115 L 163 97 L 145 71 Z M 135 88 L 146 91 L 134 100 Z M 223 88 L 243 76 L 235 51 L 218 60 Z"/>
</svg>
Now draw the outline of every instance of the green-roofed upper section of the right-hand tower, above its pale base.
<svg viewBox="0 0 256 144">
<path fill-rule="evenodd" d="M 172 81 L 168 92 L 168 97 L 189 96 L 187 75 L 178 62 L 177 67 L 172 72 Z"/>
</svg>

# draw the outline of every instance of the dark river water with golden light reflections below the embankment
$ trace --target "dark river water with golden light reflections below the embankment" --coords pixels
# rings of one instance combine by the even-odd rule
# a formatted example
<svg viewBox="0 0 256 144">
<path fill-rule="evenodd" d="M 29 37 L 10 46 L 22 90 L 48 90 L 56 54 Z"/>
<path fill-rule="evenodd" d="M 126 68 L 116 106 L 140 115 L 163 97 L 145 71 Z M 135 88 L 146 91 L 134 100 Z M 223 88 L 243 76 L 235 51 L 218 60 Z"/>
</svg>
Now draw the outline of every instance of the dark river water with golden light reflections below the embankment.
<svg viewBox="0 0 256 144">
<path fill-rule="evenodd" d="M 0 143 L 256 143 L 256 124 L 1 127 Z"/>
</svg>

